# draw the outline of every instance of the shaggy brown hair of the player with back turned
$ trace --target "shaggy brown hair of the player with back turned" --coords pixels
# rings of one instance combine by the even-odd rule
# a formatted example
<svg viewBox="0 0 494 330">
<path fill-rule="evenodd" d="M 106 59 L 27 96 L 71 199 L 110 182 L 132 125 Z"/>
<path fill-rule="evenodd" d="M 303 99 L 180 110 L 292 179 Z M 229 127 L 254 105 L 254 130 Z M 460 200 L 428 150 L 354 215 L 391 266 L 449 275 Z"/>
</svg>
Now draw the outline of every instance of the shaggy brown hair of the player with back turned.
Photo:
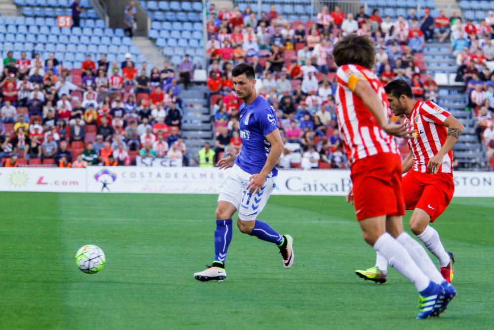
<svg viewBox="0 0 494 330">
<path fill-rule="evenodd" d="M 375 50 L 367 36 L 352 34 L 336 43 L 333 58 L 338 66 L 357 64 L 371 69 L 375 62 Z"/>
</svg>

